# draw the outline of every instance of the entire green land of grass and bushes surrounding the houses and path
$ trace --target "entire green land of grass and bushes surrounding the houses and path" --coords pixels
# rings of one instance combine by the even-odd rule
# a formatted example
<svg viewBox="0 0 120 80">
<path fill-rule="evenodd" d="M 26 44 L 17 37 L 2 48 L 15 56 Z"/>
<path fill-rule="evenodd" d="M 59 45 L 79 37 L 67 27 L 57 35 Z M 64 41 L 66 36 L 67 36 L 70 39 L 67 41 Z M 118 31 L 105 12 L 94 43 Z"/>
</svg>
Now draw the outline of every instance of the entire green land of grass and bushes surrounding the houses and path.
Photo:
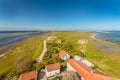
<svg viewBox="0 0 120 80">
<path fill-rule="evenodd" d="M 13 75 L 10 72 L 13 72 L 14 75 L 17 72 L 17 75 L 19 75 L 22 72 L 35 69 L 33 63 L 43 49 L 43 40 L 47 36 L 56 36 L 57 38 L 54 41 L 47 42 L 50 54 L 45 54 L 43 64 L 38 63 L 37 70 L 43 65 L 55 62 L 59 62 L 64 67 L 66 62 L 61 61 L 58 55 L 59 51 L 64 49 L 70 54 L 71 58 L 74 55 L 81 55 L 96 65 L 95 70 L 102 71 L 111 77 L 120 78 L 120 54 L 117 52 L 118 49 L 120 50 L 120 45 L 93 39 L 90 37 L 91 35 L 91 32 L 86 31 L 62 31 L 47 33 L 23 41 L 13 46 L 4 57 L 0 58 L 0 75 L 1 77 L 4 77 L 4 75 L 10 77 Z M 59 38 L 63 40 L 62 44 L 57 43 Z M 87 44 L 78 44 L 78 40 L 81 39 L 86 39 Z M 115 48 L 102 48 L 103 44 L 115 46 Z M 84 52 L 81 53 L 83 49 Z"/>
</svg>

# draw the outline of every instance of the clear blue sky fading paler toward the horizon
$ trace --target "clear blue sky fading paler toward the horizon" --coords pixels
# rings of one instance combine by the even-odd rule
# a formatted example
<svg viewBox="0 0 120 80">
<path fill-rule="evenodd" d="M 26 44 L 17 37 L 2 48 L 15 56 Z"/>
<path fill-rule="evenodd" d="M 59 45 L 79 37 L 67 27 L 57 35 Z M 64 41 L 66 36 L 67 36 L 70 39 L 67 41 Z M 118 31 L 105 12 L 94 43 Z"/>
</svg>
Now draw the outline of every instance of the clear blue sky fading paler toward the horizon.
<svg viewBox="0 0 120 80">
<path fill-rule="evenodd" d="M 0 30 L 120 30 L 120 0 L 0 0 Z"/>
</svg>

